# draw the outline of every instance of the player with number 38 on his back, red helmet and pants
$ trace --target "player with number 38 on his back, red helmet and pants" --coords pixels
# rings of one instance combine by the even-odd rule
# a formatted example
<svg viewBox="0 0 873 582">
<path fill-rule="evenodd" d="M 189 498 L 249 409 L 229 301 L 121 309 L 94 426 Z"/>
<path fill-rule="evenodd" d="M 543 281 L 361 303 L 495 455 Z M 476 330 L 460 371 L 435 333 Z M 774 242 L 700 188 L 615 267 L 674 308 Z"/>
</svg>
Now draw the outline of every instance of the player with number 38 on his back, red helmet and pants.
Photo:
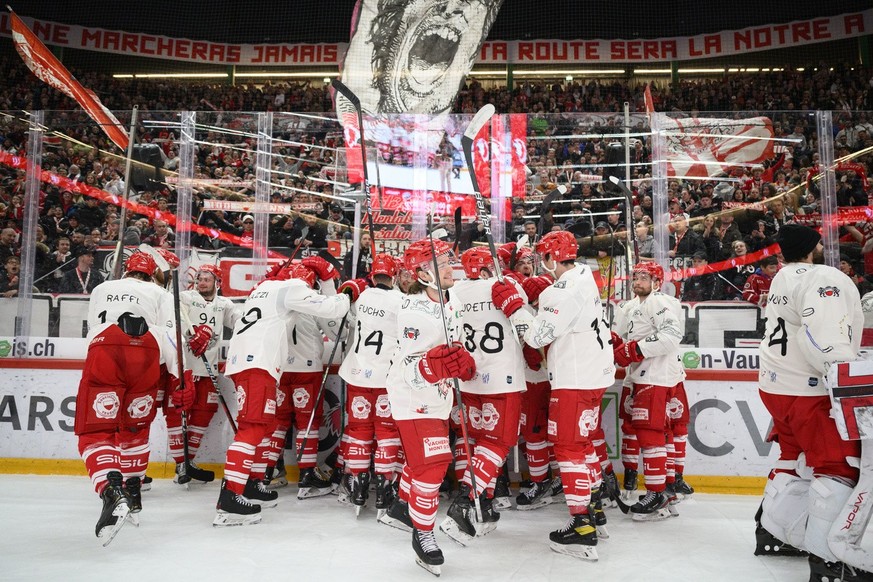
<svg viewBox="0 0 873 582">
<path fill-rule="evenodd" d="M 461 545 L 494 530 L 500 514 L 493 507 L 494 485 L 509 449 L 518 442 L 521 392 L 524 390 L 524 359 L 513 337 L 509 320 L 491 301 L 494 259 L 486 247 L 474 247 L 461 255 L 467 279 L 453 287 L 460 307 L 464 348 L 476 362 L 477 374 L 461 383 L 461 395 L 470 418 L 469 446 L 473 449 L 476 490 L 465 458 L 466 445 L 459 436 L 455 446 L 456 471 L 461 484 L 440 529 Z M 478 496 L 482 507 L 479 523 L 473 509 Z"/>
</svg>

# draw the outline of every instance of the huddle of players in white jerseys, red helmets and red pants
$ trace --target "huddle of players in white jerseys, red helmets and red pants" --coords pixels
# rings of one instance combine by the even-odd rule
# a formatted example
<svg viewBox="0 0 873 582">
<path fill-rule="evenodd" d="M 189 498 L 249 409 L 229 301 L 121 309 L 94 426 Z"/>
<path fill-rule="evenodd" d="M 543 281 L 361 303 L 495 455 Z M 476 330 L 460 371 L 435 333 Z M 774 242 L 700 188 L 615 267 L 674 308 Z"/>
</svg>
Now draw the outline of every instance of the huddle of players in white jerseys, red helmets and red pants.
<svg viewBox="0 0 873 582">
<path fill-rule="evenodd" d="M 332 264 L 308 257 L 271 270 L 242 309 L 217 294 L 220 272 L 202 267 L 196 288 L 179 294 L 181 319 L 155 258 L 131 256 L 123 278 L 92 294 L 77 398 L 79 450 L 104 503 L 98 537 L 108 544 L 142 509 L 158 407 L 177 482 L 214 479 L 194 457 L 221 399 L 214 370 L 225 327 L 233 329 L 225 374 L 238 414 L 215 526 L 258 523 L 262 509 L 277 505 L 292 426 L 298 498 L 336 490 L 360 511 L 373 479 L 379 521 L 411 532 L 417 563 L 437 575 L 443 554 L 434 530 L 447 477 L 458 490 L 439 529 L 475 543 L 512 505 L 504 464 L 519 437 L 529 481 L 516 507 L 537 509 L 563 494 L 569 519 L 549 534 L 558 553 L 597 560 L 598 538 L 609 535 L 604 507 L 635 521 L 678 515 L 676 504 L 693 493 L 683 478 L 680 304 L 659 291 L 662 268 L 643 262 L 633 269 L 635 297 L 608 321 L 577 250 L 568 232 L 549 233 L 534 249 L 503 245 L 496 257 L 474 247 L 460 256 L 465 278 L 455 280 L 450 245 L 424 239 L 400 259 L 374 254 L 367 278 L 338 287 Z M 168 331 L 177 321 L 187 338 L 183 366 Z M 325 338 L 346 352 L 346 422 L 330 478 L 317 466 Z M 600 414 L 616 366 L 625 368 L 623 487 Z M 636 498 L 640 456 L 645 493 Z"/>
</svg>

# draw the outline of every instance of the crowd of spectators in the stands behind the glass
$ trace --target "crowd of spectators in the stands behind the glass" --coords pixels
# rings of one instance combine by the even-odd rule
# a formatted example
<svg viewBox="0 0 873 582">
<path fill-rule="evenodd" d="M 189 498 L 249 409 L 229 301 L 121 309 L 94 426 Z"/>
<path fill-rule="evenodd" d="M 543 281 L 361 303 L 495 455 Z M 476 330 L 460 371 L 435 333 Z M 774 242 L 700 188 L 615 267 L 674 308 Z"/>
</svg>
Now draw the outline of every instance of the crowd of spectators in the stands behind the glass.
<svg viewBox="0 0 873 582">
<path fill-rule="evenodd" d="M 298 243 L 323 248 L 328 241 L 352 238 L 351 214 L 335 201 L 319 196 L 333 194 L 342 181 L 337 174 L 335 148 L 342 133 L 332 115 L 326 87 L 309 83 L 265 83 L 261 86 L 190 84 L 172 80 L 113 79 L 97 73 L 76 72 L 109 109 L 124 111 L 138 105 L 142 118 L 138 141 L 159 154 L 159 165 L 168 171 L 179 167 L 178 130 L 174 111 L 198 114 L 195 178 L 214 181 L 215 186 L 195 188 L 192 215 L 209 226 L 236 237 L 236 244 L 251 244 L 254 218 L 245 213 L 203 211 L 209 198 L 248 199 L 255 188 L 256 133 L 254 116 L 234 112 L 305 112 L 307 116 L 284 116 L 274 130 L 278 147 L 273 156 L 273 202 L 290 203 L 295 212 L 273 215 L 271 247 L 294 247 Z M 64 134 L 58 143 L 46 143 L 43 167 L 76 182 L 112 194 L 124 189 L 124 158 L 90 122 L 77 104 L 38 81 L 20 60 L 0 60 L 0 151 L 25 153 L 27 124 L 21 111 L 49 111 L 46 125 Z M 624 198 L 605 187 L 609 172 L 607 157 L 614 134 L 624 132 L 619 115 L 625 101 L 643 111 L 642 84 L 618 81 L 581 81 L 553 84 L 523 81 L 511 90 L 485 88 L 475 80 L 462 87 L 455 102 L 456 113 L 473 113 L 484 103 L 498 112 L 528 113 L 530 175 L 526 197 L 513 200 L 507 238 L 543 229 L 571 230 L 581 243 L 581 253 L 592 259 L 613 260 L 624 256 L 628 225 Z M 711 180 L 669 181 L 670 239 L 667 255 L 677 268 L 702 267 L 754 253 L 770 245 L 779 228 L 792 221 L 815 217 L 820 190 L 810 171 L 818 164 L 815 117 L 807 110 L 834 112 L 835 157 L 851 157 L 853 165 L 837 172 L 837 197 L 841 206 L 867 206 L 870 190 L 865 177 L 873 171 L 873 70 L 867 68 L 818 67 L 805 71 L 761 74 L 731 74 L 720 79 L 683 80 L 653 87 L 656 110 L 679 111 L 682 116 L 728 112 L 740 118 L 766 115 L 779 141 L 774 158 L 755 167 L 737 167 L 726 176 Z M 206 113 L 208 112 L 208 113 Z M 585 115 L 585 113 L 591 115 Z M 641 118 L 638 118 L 641 119 Z M 124 123 L 124 120 L 122 120 Z M 223 129 L 229 131 L 223 131 Z M 644 133 L 636 122 L 635 133 Z M 566 137 L 574 134 L 596 137 Z M 396 146 L 396 144 L 394 144 Z M 650 141 L 634 139 L 631 151 L 633 200 L 631 228 L 640 256 L 653 257 L 655 243 Z M 398 147 L 380 149 L 387 163 L 410 163 Z M 429 163 L 433 167 L 458 169 L 456 146 L 443 141 Z M 341 172 L 341 168 L 339 169 Z M 17 290 L 21 255 L 25 173 L 0 165 L 0 294 Z M 156 185 L 157 184 L 157 185 Z M 542 198 L 561 187 L 551 212 L 541 223 L 537 217 Z M 172 182 L 151 182 L 137 188 L 132 199 L 158 212 L 176 211 Z M 99 283 L 92 268 L 98 246 L 114 244 L 120 236 L 127 245 L 148 243 L 172 247 L 175 234 L 165 220 L 131 213 L 120 223 L 119 209 L 94 198 L 42 184 L 37 227 L 36 283 L 43 292 L 88 292 Z M 469 225 L 468 244 L 482 238 L 481 227 Z M 843 270 L 861 288 L 871 288 L 873 276 L 873 223 L 857 222 L 841 228 Z M 220 249 L 233 244 L 215 237 L 196 235 L 192 244 Z M 740 265 L 711 275 L 691 277 L 682 285 L 689 301 L 736 299 L 761 304 L 766 301 L 766 278 L 778 264 Z M 754 278 L 753 278 L 754 277 Z M 747 283 L 753 282 L 748 289 Z"/>
</svg>

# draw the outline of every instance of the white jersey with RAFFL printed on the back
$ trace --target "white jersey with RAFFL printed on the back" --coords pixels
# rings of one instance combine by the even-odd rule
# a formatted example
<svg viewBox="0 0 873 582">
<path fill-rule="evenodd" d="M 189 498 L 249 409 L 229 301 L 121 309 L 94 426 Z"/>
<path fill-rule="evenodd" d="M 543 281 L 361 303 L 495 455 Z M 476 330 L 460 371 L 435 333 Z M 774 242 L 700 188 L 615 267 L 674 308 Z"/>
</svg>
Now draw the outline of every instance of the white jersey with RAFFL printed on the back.
<svg viewBox="0 0 873 582">
<path fill-rule="evenodd" d="M 88 301 L 88 342 L 125 313 L 145 319 L 161 348 L 161 363 L 177 376 L 173 296 L 152 282 L 133 277 L 97 285 Z"/>
</svg>

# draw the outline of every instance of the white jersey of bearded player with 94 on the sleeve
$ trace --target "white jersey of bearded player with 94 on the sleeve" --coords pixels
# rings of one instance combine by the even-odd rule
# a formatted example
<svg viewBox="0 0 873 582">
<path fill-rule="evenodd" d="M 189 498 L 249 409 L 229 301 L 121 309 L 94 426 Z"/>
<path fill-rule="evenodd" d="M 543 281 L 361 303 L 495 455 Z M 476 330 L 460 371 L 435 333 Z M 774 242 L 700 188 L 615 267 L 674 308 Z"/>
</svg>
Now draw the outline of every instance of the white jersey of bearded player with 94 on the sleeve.
<svg viewBox="0 0 873 582">
<path fill-rule="evenodd" d="M 216 295 L 212 301 L 207 301 L 196 290 L 179 293 L 179 307 L 182 311 L 182 326 L 186 327 L 186 319 L 191 325 L 208 325 L 212 329 L 212 340 L 206 349 L 206 360 L 212 366 L 212 372 L 218 373 L 218 360 L 221 356 L 221 338 L 224 328 L 233 329 L 239 319 L 242 306 L 237 306 L 228 299 Z M 195 357 L 185 347 L 185 369 L 191 370 L 195 376 L 208 376 L 202 358 Z"/>
</svg>

